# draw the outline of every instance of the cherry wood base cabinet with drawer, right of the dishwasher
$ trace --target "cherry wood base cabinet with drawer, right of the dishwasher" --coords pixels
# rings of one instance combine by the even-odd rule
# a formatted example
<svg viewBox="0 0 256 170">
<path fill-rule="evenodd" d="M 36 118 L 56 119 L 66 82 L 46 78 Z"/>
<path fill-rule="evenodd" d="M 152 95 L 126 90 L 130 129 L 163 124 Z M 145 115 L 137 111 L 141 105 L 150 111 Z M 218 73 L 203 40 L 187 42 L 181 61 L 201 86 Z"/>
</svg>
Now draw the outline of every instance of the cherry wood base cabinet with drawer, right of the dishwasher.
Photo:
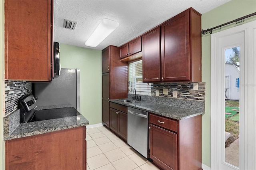
<svg viewBox="0 0 256 170">
<path fill-rule="evenodd" d="M 202 169 L 202 115 L 174 120 L 150 113 L 150 158 L 163 170 Z"/>
</svg>

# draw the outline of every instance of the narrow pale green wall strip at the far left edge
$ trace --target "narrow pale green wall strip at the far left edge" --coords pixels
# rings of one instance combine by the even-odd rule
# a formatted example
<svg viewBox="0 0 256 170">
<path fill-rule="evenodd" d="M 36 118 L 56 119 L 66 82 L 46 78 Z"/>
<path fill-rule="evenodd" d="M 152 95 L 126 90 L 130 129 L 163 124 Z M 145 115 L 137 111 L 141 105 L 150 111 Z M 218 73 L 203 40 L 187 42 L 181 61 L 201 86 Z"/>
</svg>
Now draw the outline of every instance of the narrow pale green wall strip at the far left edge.
<svg viewBox="0 0 256 170">
<path fill-rule="evenodd" d="M 0 170 L 4 170 L 4 1 L 2 0 L 0 14 Z"/>
</svg>

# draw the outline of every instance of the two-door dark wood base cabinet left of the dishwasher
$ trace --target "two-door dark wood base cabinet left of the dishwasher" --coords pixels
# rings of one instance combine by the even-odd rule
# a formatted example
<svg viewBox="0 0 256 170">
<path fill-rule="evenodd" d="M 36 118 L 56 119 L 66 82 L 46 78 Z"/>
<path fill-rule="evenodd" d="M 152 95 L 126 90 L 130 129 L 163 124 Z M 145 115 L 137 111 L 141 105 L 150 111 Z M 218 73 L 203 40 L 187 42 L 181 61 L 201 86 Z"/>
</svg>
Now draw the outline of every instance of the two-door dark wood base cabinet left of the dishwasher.
<svg viewBox="0 0 256 170">
<path fill-rule="evenodd" d="M 127 107 L 110 102 L 110 129 L 127 141 Z"/>
</svg>

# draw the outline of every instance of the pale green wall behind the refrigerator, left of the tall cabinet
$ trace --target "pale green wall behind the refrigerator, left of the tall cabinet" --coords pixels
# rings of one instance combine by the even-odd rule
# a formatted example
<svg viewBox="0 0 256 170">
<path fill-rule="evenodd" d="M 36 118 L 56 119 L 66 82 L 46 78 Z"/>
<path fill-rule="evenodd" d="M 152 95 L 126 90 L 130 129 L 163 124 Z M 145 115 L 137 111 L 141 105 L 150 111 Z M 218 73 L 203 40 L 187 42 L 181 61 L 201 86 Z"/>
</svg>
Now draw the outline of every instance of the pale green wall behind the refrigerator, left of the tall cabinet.
<svg viewBox="0 0 256 170">
<path fill-rule="evenodd" d="M 90 125 L 102 123 L 101 51 L 60 44 L 60 63 L 80 69 L 80 112 Z"/>
</svg>

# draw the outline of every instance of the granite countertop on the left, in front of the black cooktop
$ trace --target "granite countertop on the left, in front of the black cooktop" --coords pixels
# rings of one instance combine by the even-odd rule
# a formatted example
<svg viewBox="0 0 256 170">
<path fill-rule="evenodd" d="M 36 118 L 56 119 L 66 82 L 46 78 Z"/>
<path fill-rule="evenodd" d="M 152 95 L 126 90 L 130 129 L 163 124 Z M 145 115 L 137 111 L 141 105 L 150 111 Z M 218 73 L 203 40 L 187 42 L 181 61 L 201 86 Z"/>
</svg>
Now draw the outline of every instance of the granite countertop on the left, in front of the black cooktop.
<svg viewBox="0 0 256 170">
<path fill-rule="evenodd" d="M 81 127 L 86 125 L 89 125 L 89 121 L 81 114 L 73 117 L 21 123 L 18 125 L 18 127 L 15 128 L 15 130 L 11 134 L 4 134 L 4 140 L 32 136 L 36 134 L 43 134 L 47 132 L 54 132 L 58 130 Z"/>
</svg>

